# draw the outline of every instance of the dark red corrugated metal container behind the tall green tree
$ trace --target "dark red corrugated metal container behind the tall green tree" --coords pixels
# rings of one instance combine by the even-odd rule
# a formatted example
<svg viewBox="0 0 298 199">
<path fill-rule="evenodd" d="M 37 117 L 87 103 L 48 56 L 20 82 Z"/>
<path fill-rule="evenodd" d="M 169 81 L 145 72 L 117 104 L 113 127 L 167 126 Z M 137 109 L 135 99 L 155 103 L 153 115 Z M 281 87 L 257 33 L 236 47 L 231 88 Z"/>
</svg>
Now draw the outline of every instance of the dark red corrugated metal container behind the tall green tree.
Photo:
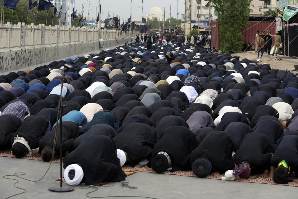
<svg viewBox="0 0 298 199">
<path fill-rule="evenodd" d="M 220 39 L 219 39 L 219 24 L 218 21 L 212 21 L 211 23 L 211 47 L 215 47 L 217 49 L 220 49 Z M 243 35 L 243 41 L 249 42 L 252 45 L 252 48 L 255 49 L 255 34 L 257 33 L 257 30 L 260 31 L 259 34 L 262 33 L 262 31 L 265 31 L 265 34 L 267 34 L 267 30 L 271 32 L 272 35 L 276 32 L 276 22 L 270 22 L 270 21 L 250 21 L 249 26 L 246 30 L 242 30 L 241 32 Z M 272 46 L 274 46 L 274 39 L 272 38 Z"/>
</svg>

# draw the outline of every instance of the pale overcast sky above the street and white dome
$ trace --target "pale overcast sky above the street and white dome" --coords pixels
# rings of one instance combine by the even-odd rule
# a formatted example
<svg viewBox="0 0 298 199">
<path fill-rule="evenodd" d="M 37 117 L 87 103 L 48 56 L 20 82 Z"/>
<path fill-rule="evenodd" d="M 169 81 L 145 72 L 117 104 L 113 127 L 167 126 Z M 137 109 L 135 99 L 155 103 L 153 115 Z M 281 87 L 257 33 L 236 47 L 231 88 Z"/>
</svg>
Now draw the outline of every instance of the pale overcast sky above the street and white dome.
<svg viewBox="0 0 298 199">
<path fill-rule="evenodd" d="M 96 7 L 98 10 L 98 0 L 89 0 L 90 1 L 90 11 L 89 17 L 96 17 Z M 101 0 L 102 11 L 104 19 L 108 18 L 108 13 L 110 17 L 120 15 L 120 20 L 127 20 L 130 16 L 130 0 Z M 88 0 L 75 0 L 75 8 L 77 13 L 82 12 L 82 4 L 84 4 L 84 16 L 88 17 Z M 170 17 L 170 6 L 171 6 L 171 16 L 177 18 L 177 0 L 144 0 L 143 1 L 143 17 L 149 14 L 151 7 L 160 7 L 163 10 L 165 7 L 165 16 L 166 18 Z M 181 14 L 184 13 L 184 0 L 178 0 L 178 18 L 181 19 Z M 132 0 L 132 20 L 141 21 L 142 19 L 142 0 Z M 97 11 L 98 12 L 98 11 Z M 102 13 L 101 13 L 102 20 Z"/>
</svg>

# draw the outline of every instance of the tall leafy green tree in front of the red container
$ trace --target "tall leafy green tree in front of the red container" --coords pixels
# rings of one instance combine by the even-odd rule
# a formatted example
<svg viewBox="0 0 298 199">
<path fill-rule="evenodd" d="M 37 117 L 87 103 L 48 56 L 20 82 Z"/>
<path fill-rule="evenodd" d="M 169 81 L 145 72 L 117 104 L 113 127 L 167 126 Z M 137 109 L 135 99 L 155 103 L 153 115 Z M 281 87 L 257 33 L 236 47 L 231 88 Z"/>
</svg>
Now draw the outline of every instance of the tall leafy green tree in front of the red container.
<svg viewBox="0 0 298 199">
<path fill-rule="evenodd" d="M 221 52 L 231 53 L 241 50 L 243 35 L 239 34 L 249 25 L 249 6 L 252 0 L 212 0 L 218 13 Z"/>
</svg>

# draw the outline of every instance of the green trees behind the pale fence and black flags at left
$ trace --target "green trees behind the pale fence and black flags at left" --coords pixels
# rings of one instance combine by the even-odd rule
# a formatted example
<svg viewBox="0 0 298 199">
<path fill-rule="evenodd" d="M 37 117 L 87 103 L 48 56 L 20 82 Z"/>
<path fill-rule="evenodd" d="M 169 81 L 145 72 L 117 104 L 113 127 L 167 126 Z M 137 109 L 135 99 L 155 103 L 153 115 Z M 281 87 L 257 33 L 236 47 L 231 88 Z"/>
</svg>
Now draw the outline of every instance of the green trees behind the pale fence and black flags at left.
<svg viewBox="0 0 298 199">
<path fill-rule="evenodd" d="M 34 2 L 34 1 L 33 1 Z M 4 0 L 0 0 L 0 5 L 3 5 Z M 12 15 L 12 23 L 26 23 L 27 21 L 27 14 L 28 14 L 28 0 L 20 0 L 17 4 L 16 4 L 16 9 L 13 11 L 13 15 Z M 53 20 L 53 25 L 59 25 L 59 21 L 58 21 L 58 13 L 60 11 L 60 8 L 57 7 L 57 13 L 54 17 Z M 47 16 L 47 12 L 42 10 L 39 11 L 37 14 L 37 9 L 38 6 L 35 6 L 34 8 L 29 10 L 29 14 L 28 14 L 28 24 L 31 23 L 36 23 L 35 24 L 46 24 L 46 20 L 47 20 L 47 25 L 52 25 L 52 15 L 53 15 L 53 11 L 54 11 L 54 7 L 51 7 L 48 10 L 48 16 Z M 4 9 L 4 23 L 6 23 L 7 21 L 11 21 L 11 9 L 5 7 Z M 1 14 L 1 12 L 0 12 Z M 37 20 L 36 20 L 37 17 Z M 2 22 L 3 22 L 3 18 L 2 18 Z"/>
</svg>

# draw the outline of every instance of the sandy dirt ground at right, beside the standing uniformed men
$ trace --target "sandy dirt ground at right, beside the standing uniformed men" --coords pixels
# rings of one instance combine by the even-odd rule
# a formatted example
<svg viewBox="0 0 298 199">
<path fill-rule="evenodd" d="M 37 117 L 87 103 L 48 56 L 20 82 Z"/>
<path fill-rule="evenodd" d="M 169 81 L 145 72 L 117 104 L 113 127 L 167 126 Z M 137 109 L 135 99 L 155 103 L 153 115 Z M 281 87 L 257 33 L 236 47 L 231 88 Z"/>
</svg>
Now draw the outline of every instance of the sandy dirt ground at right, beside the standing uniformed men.
<svg viewBox="0 0 298 199">
<path fill-rule="evenodd" d="M 239 56 L 240 60 L 246 58 L 249 60 L 256 60 L 257 54 L 256 53 L 250 53 L 250 52 L 245 52 L 245 53 L 234 53 L 231 54 L 232 56 L 237 55 Z M 263 55 L 263 58 L 261 59 L 260 62 L 258 62 L 259 64 L 263 64 L 263 63 L 268 63 L 270 64 L 270 67 L 272 69 L 279 69 L 279 70 L 290 70 L 292 72 L 294 68 L 294 65 L 297 65 L 298 63 L 294 63 L 294 62 L 289 62 L 289 61 L 283 61 L 280 60 L 278 61 L 273 60 L 273 58 L 275 58 L 275 56 L 267 56 L 267 55 Z M 298 59 L 297 59 L 298 62 Z M 298 71 L 297 71 L 298 72 Z M 293 71 L 293 73 L 297 73 L 296 71 Z"/>
</svg>

